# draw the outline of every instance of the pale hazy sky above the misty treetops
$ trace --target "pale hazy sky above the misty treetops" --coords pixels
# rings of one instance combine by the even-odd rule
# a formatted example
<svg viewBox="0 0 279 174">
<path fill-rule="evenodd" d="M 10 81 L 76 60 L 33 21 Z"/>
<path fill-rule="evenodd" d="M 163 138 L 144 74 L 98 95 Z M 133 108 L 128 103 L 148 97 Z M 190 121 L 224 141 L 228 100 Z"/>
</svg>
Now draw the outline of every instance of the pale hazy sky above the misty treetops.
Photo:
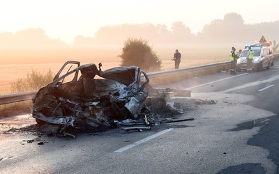
<svg viewBox="0 0 279 174">
<path fill-rule="evenodd" d="M 40 28 L 50 38 L 73 42 L 93 37 L 102 26 L 183 22 L 192 33 L 237 13 L 245 24 L 279 19 L 278 0 L 0 0 L 0 33 Z M 233 27 L 233 25 L 232 25 Z"/>
</svg>

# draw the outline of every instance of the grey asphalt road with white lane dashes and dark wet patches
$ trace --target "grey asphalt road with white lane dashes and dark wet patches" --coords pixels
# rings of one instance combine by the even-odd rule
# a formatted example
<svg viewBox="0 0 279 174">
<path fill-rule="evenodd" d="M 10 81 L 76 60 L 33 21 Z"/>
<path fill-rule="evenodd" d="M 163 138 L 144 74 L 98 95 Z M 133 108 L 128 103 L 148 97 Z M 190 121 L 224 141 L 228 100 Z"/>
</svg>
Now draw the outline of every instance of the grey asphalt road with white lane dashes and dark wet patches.
<svg viewBox="0 0 279 174">
<path fill-rule="evenodd" d="M 193 121 L 75 139 L 1 134 L 0 173 L 279 173 L 277 64 L 262 72 L 220 72 L 161 86 L 188 88 L 190 98 L 216 101 L 181 116 Z M 46 143 L 26 141 L 36 138 Z"/>
</svg>

